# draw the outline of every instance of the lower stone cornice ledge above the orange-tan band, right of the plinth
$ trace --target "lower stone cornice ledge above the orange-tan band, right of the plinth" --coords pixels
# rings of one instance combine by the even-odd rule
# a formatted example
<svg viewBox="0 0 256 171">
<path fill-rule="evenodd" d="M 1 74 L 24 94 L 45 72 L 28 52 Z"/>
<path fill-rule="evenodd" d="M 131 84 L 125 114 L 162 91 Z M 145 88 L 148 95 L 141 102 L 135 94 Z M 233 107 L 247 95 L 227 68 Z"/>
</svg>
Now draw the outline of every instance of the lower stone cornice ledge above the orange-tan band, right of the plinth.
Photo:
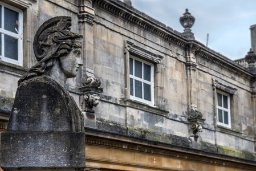
<svg viewBox="0 0 256 171">
<path fill-rule="evenodd" d="M 182 160 L 193 160 L 214 165 L 229 165 L 235 168 L 255 169 L 255 161 L 235 158 L 217 153 L 205 152 L 192 148 L 183 148 L 166 143 L 148 141 L 135 137 L 122 136 L 95 129 L 86 128 L 86 144 L 94 146 L 104 146 L 105 148 L 115 148 L 120 150 L 131 150 L 141 152 L 181 158 Z"/>
</svg>

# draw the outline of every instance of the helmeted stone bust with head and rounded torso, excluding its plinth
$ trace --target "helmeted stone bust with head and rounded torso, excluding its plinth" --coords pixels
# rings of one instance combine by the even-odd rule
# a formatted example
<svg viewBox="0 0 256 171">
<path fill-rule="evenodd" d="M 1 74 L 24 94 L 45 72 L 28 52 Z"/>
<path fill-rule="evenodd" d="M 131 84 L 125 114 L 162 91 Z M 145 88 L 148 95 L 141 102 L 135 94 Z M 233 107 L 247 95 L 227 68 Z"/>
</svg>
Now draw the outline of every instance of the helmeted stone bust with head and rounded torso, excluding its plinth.
<svg viewBox="0 0 256 171">
<path fill-rule="evenodd" d="M 7 131 L 84 131 L 83 115 L 63 88 L 82 66 L 82 35 L 70 26 L 70 17 L 55 17 L 39 27 L 34 38 L 38 63 L 18 82 Z"/>
</svg>

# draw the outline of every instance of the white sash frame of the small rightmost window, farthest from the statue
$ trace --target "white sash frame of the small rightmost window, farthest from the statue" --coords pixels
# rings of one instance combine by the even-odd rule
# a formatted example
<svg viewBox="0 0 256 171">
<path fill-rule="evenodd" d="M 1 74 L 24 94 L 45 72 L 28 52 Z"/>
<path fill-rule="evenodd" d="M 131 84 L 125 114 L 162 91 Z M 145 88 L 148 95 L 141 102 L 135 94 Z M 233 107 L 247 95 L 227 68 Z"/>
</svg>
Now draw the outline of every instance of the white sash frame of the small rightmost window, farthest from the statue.
<svg viewBox="0 0 256 171">
<path fill-rule="evenodd" d="M 218 106 L 218 93 L 222 95 L 221 96 L 222 97 L 222 107 Z M 223 107 L 223 95 L 227 96 L 227 108 Z M 221 125 L 223 127 L 231 128 L 230 95 L 227 94 L 227 93 L 224 93 L 222 91 L 216 91 L 216 108 L 217 108 L 217 124 Z M 229 124 L 225 124 L 225 123 L 219 122 L 218 109 L 221 109 L 222 111 L 226 111 L 227 112 Z M 222 120 L 224 122 L 224 114 L 223 113 L 222 113 Z"/>
</svg>

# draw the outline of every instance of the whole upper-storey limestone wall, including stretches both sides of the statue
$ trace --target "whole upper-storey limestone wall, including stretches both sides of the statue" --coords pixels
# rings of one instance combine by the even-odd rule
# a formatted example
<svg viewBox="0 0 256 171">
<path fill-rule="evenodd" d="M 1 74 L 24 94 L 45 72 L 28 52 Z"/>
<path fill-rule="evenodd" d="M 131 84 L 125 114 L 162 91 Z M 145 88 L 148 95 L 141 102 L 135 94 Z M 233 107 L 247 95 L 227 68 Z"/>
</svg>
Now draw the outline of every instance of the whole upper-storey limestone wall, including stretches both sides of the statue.
<svg viewBox="0 0 256 171">
<path fill-rule="evenodd" d="M 24 56 L 31 58 L 24 60 L 26 64 L 23 67 L 0 62 L 0 96 L 8 99 L 14 98 L 18 79 L 35 64 L 31 43 L 35 30 L 44 21 L 57 15 L 67 15 L 72 17 L 71 31 L 81 31 L 78 1 L 33 2 L 36 2 L 33 6 L 36 10 L 32 16 L 36 19 L 30 21 L 32 36 L 25 37 L 27 44 L 24 44 L 27 47 Z M 94 108 L 96 129 L 255 160 L 253 75 L 203 44 L 185 39 L 179 32 L 121 5 L 119 1 L 107 2 L 115 4 L 112 11 L 98 2 L 92 1 L 92 8 L 95 9 L 92 56 L 94 76 L 101 80 L 104 91 L 99 105 Z M 130 19 L 132 17 L 134 20 Z M 195 46 L 191 48 L 191 53 L 188 52 L 189 43 Z M 147 58 L 147 62 L 154 64 L 155 105 L 147 105 L 129 97 L 129 55 Z M 87 57 L 83 55 L 83 58 Z M 188 67 L 191 63 L 193 75 L 189 77 Z M 81 71 L 76 78 L 68 79 L 65 86 L 79 106 L 83 98 L 79 91 L 82 78 Z M 190 79 L 192 88 L 188 85 Z M 217 125 L 216 89 L 230 93 L 231 128 Z M 205 119 L 202 132 L 197 133 L 197 141 L 188 132 L 188 108 L 192 106 L 190 100 Z M 2 101 L 0 99 L 1 104 Z"/>
</svg>

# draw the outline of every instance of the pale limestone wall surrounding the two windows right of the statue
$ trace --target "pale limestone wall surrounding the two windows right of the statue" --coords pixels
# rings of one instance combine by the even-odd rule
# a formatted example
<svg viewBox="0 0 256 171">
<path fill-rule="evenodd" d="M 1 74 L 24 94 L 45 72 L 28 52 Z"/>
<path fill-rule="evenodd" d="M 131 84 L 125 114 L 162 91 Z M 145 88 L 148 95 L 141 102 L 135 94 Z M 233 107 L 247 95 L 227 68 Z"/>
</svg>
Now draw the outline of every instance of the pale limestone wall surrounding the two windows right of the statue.
<svg viewBox="0 0 256 171">
<path fill-rule="evenodd" d="M 251 100 L 251 75 L 246 73 L 246 70 L 241 67 L 231 70 L 227 64 L 234 66 L 233 62 L 216 52 L 210 51 L 212 58 L 222 62 L 206 59 L 200 53 L 198 55 L 200 48 L 209 51 L 200 45 L 201 47 L 195 50 L 196 66 L 192 70 L 194 76 L 191 78 L 193 91 L 192 97 L 189 97 L 185 46 L 168 42 L 115 13 L 102 10 L 97 5 L 93 7 L 94 70 L 104 89 L 100 105 L 95 108 L 98 129 L 255 159 L 254 104 Z M 181 37 L 177 39 L 183 40 Z M 127 48 L 125 42 L 131 42 L 131 48 L 138 46 L 147 52 L 162 56 L 164 108 L 160 108 L 158 104 L 152 107 L 129 100 L 125 58 L 127 53 L 129 55 L 130 47 Z M 141 57 L 141 54 L 133 55 Z M 217 125 L 216 89 L 230 93 L 231 128 Z M 198 141 L 190 137 L 188 132 L 189 98 L 195 99 L 193 103 L 196 103 L 197 110 L 205 119 L 202 132 L 198 132 Z M 109 110 L 105 110 L 106 108 Z"/>
</svg>

